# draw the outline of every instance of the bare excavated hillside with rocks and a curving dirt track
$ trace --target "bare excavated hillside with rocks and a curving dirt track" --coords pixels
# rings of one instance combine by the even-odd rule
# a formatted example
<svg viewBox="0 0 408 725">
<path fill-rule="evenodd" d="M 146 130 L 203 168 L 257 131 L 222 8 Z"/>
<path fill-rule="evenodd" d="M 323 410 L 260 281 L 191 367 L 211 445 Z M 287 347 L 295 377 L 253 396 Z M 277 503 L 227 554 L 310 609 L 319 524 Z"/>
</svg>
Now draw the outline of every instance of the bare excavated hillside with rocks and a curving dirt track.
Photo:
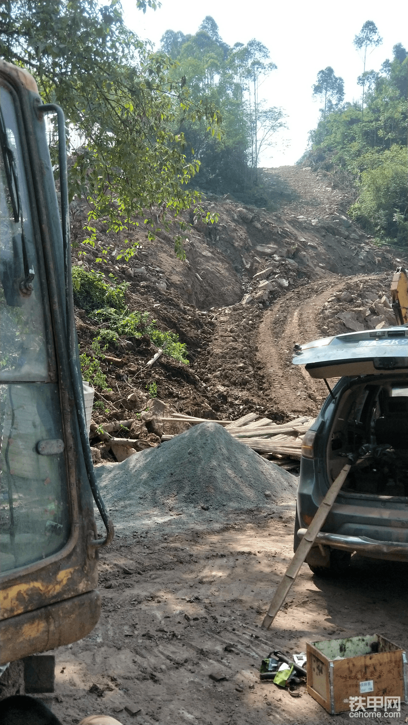
<svg viewBox="0 0 408 725">
<path fill-rule="evenodd" d="M 117 260 L 120 239 L 104 234 L 101 223 L 97 246 L 111 251 L 107 263 L 96 264 L 100 250 L 80 243 L 78 207 L 78 264 L 102 270 L 108 281 L 109 274 L 128 281 L 129 309 L 146 310 L 159 328 L 176 332 L 190 361 L 187 366 L 162 355 L 146 368 L 156 352 L 149 339 L 137 345 L 122 339 L 107 351 L 111 360 L 101 362 L 112 388 L 103 397 L 115 410 L 95 411 L 96 423 L 128 418 L 128 395 L 138 391 L 144 404 L 152 384 L 173 410 L 204 418 L 255 411 L 283 420 L 317 412 L 326 389 L 291 368 L 293 343 L 355 324 L 374 326 L 377 312 L 361 310 L 388 293 L 392 270 L 407 262 L 396 249 L 376 246 L 349 220 L 350 199 L 328 186 L 325 176 L 300 167 L 263 170 L 263 176 L 275 211 L 207 198 L 204 208 L 219 219 L 204 225 L 186 215 L 191 227 L 185 262 L 173 251 L 175 229 L 158 231 L 150 242 L 141 224 L 130 233 L 141 244 L 138 254 L 123 264 Z M 345 317 L 345 323 L 336 317 L 351 307 L 354 318 Z M 84 310 L 77 312 L 81 349 L 89 351 L 98 329 Z"/>
</svg>

